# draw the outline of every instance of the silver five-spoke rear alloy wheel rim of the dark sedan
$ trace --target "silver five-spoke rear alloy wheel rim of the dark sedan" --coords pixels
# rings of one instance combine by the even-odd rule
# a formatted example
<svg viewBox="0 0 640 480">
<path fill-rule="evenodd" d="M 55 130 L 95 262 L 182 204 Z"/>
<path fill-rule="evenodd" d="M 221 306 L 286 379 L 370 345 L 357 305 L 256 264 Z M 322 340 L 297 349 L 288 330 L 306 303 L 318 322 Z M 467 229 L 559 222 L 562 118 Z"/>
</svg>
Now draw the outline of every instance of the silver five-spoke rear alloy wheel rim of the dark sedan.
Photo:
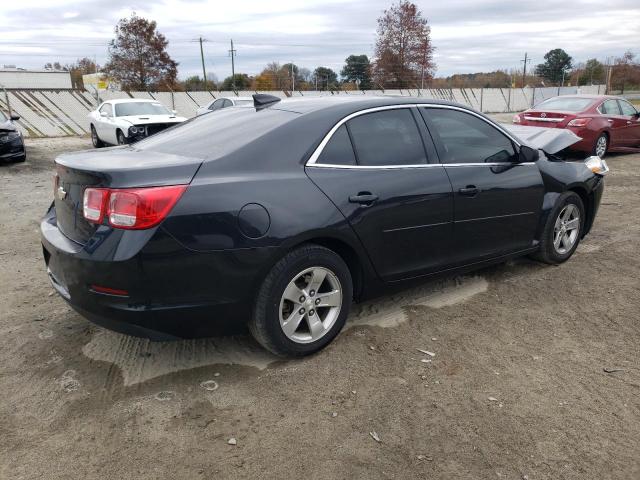
<svg viewBox="0 0 640 480">
<path fill-rule="evenodd" d="M 342 286 L 324 267 L 298 273 L 280 300 L 280 327 L 296 343 L 312 343 L 331 330 L 342 308 Z"/>
</svg>

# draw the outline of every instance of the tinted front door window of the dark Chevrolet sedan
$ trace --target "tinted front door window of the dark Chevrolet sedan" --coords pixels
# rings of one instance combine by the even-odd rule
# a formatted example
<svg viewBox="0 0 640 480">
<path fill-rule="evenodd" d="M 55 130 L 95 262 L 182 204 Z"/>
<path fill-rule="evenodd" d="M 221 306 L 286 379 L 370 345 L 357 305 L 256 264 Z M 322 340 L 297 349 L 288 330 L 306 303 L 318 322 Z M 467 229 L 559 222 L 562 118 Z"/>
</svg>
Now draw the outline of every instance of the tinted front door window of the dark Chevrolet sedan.
<svg viewBox="0 0 640 480">
<path fill-rule="evenodd" d="M 447 108 L 428 108 L 429 119 L 440 137 L 443 163 L 516 162 L 513 142 L 488 122 Z"/>
</svg>

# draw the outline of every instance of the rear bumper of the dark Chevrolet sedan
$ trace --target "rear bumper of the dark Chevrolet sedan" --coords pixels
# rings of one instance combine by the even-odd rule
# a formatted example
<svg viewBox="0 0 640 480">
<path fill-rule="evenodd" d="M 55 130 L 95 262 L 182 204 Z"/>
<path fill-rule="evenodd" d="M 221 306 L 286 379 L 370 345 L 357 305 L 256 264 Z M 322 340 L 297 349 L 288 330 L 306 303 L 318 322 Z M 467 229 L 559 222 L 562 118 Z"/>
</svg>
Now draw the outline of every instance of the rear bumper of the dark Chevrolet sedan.
<svg viewBox="0 0 640 480">
<path fill-rule="evenodd" d="M 192 252 L 161 229 L 136 250 L 131 237 L 104 235 L 79 245 L 65 237 L 51 208 L 41 223 L 52 286 L 92 322 L 155 340 L 235 333 L 251 314 L 271 249 Z M 93 239 L 92 239 L 93 240 Z M 113 252 L 131 248 L 131 256 Z M 96 286 L 126 295 L 96 291 Z"/>
</svg>

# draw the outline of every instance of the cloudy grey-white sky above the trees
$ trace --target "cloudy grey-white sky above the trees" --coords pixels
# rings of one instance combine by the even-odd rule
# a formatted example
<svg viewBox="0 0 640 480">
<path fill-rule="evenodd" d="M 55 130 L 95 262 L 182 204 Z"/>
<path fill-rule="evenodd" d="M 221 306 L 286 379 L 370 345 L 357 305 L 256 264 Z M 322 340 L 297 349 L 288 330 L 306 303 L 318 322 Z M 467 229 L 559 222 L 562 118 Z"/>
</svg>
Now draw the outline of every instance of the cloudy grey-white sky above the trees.
<svg viewBox="0 0 640 480">
<path fill-rule="evenodd" d="M 205 38 L 207 71 L 222 79 L 259 73 L 270 61 L 339 71 L 350 54 L 373 54 L 376 19 L 392 0 L 8 0 L 0 7 L 0 67 L 39 68 L 79 57 L 107 59 L 118 19 L 135 11 L 156 20 L 179 62 L 179 76 L 201 72 L 196 39 Z M 520 67 L 560 47 L 577 61 L 640 54 L 640 0 L 418 0 L 436 47 L 437 75 Z"/>
</svg>

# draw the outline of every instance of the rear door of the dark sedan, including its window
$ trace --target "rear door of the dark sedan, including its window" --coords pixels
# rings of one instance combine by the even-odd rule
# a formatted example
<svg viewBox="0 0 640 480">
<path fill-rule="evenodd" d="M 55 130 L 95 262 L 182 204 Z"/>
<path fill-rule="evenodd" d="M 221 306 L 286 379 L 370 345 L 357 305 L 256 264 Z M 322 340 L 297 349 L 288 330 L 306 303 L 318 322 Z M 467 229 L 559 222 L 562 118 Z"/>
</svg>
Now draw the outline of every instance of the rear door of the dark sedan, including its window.
<svg viewBox="0 0 640 480">
<path fill-rule="evenodd" d="M 387 281 L 449 263 L 451 184 L 417 115 L 409 106 L 359 112 L 334 127 L 306 169 Z"/>
</svg>

